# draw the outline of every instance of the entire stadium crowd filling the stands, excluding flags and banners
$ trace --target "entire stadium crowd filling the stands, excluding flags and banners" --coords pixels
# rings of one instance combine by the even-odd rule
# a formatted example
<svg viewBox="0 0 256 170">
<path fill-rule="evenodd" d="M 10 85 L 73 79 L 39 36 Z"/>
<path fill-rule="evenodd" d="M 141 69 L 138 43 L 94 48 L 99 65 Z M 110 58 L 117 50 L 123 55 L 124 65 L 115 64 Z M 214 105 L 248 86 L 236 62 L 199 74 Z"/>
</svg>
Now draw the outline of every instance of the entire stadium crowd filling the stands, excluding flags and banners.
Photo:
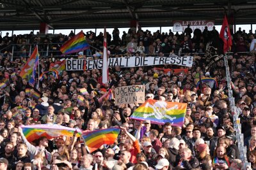
<svg viewBox="0 0 256 170">
<path fill-rule="evenodd" d="M 68 72 L 62 71 L 56 78 L 49 74 L 40 85 L 31 85 L 26 78 L 20 78 L 19 71 L 28 59 L 28 39 L 38 44 L 41 54 L 39 72 L 49 70 L 52 62 L 61 58 L 60 46 L 74 36 L 56 37 L 29 34 L 0 37 L 1 72 L 0 78 L 8 78 L 10 85 L 0 90 L 0 169 L 242 169 L 243 162 L 236 145 L 234 114 L 241 119 L 244 145 L 250 169 L 256 169 L 256 83 L 255 83 L 255 38 L 250 31 L 232 35 L 232 55 L 228 60 L 232 73 L 232 83 L 227 84 L 223 60 L 218 60 L 209 70 L 204 57 L 207 47 L 215 42 L 216 52 L 221 53 L 218 31 L 193 32 L 188 28 L 182 34 L 138 31 L 127 33 L 117 28 L 108 34 L 109 52 L 115 57 L 151 55 L 166 56 L 170 53 L 193 55 L 193 67 L 188 73 L 167 73 L 152 66 L 109 68 L 109 83 L 102 84 L 101 70 Z M 86 41 L 93 46 L 90 54 L 97 53 L 103 42 L 103 34 L 95 36 L 86 32 Z M 52 52 L 45 56 L 45 48 L 51 44 Z M 10 44 L 15 45 L 19 57 L 14 61 Z M 241 53 L 243 52 L 243 53 Z M 97 57 L 84 55 L 86 57 Z M 164 65 L 162 68 L 185 69 L 182 66 Z M 14 73 L 14 74 L 13 74 Z M 37 72 L 37 74 L 40 74 Z M 36 75 L 38 77 L 38 75 Z M 202 78 L 216 78 L 216 86 L 202 83 Z M 38 80 L 36 80 L 37 82 Z M 145 99 L 188 103 L 184 125 L 174 127 L 151 124 L 150 121 L 134 121 L 131 115 L 140 104 L 120 104 L 107 99 L 109 89 L 115 96 L 115 87 L 125 85 L 145 85 Z M 236 101 L 236 111 L 232 112 L 228 101 L 228 86 L 232 87 Z M 39 86 L 39 87 L 38 87 Z M 38 88 L 37 88 L 38 87 Z M 77 103 L 79 89 L 88 94 L 83 103 Z M 26 89 L 40 93 L 40 99 L 26 94 Z M 83 131 L 106 129 L 120 126 L 114 145 L 102 145 L 89 153 L 83 139 L 61 136 L 60 138 L 35 139 L 29 143 L 20 125 L 58 124 L 77 127 Z"/>
</svg>

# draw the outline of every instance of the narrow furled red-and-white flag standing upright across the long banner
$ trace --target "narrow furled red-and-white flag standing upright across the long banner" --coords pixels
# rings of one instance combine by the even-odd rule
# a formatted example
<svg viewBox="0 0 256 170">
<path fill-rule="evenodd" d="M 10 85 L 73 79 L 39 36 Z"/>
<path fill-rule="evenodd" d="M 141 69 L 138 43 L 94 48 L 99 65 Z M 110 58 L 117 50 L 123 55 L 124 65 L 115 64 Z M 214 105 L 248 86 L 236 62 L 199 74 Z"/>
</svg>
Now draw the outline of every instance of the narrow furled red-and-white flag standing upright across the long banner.
<svg viewBox="0 0 256 170">
<path fill-rule="evenodd" d="M 102 83 L 108 83 L 108 48 L 106 27 L 104 28 Z"/>
</svg>

